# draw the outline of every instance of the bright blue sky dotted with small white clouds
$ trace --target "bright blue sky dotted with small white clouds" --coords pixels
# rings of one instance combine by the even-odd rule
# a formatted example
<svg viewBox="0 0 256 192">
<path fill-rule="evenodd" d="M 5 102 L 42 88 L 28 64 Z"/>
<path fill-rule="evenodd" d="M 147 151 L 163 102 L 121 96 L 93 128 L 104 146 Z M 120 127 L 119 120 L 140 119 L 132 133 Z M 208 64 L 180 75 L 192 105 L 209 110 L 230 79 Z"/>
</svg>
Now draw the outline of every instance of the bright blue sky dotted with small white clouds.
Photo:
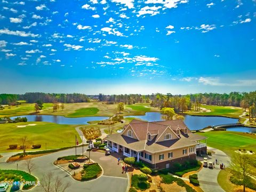
<svg viewBox="0 0 256 192">
<path fill-rule="evenodd" d="M 256 90 L 255 0 L 0 4 L 1 93 Z"/>
</svg>

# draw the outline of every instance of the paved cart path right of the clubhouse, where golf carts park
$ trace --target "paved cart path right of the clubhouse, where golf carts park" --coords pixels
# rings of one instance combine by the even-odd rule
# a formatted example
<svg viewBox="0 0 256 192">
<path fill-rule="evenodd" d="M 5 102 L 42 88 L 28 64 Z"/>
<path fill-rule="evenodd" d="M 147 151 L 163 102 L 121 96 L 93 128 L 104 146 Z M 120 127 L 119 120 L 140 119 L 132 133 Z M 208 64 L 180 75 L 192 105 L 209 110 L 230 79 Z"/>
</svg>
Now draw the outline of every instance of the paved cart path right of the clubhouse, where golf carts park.
<svg viewBox="0 0 256 192">
<path fill-rule="evenodd" d="M 214 169 L 209 169 L 203 167 L 201 171 L 198 173 L 198 181 L 200 183 L 200 187 L 203 189 L 203 191 L 206 192 L 225 192 L 220 186 L 217 181 L 218 174 L 220 172 L 220 163 L 223 163 L 226 165 L 226 167 L 229 165 L 230 158 L 227 156 L 223 151 L 211 147 L 207 147 L 207 149 L 212 150 L 215 152 L 215 154 L 212 154 L 212 156 L 209 156 L 209 161 L 214 162 L 215 159 L 218 160 L 218 165 L 215 165 Z M 202 159 L 198 159 L 202 160 Z"/>
</svg>

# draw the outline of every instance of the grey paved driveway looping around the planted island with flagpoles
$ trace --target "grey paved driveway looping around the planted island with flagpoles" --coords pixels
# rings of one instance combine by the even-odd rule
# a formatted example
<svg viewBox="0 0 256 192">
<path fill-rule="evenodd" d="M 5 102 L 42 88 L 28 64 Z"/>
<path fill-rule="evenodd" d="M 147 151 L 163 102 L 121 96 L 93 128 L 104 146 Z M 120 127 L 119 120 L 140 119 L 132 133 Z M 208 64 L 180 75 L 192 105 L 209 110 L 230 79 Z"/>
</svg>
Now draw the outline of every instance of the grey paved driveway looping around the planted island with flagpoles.
<svg viewBox="0 0 256 192">
<path fill-rule="evenodd" d="M 9 153 L 8 155 L 10 155 Z M 70 177 L 70 175 L 61 170 L 59 167 L 53 165 L 53 162 L 61 156 L 74 155 L 75 149 L 67 149 L 59 151 L 57 153 L 44 155 L 41 157 L 33 158 L 32 162 L 36 165 L 36 169 L 31 172 L 37 178 L 42 179 L 43 173 L 53 172 L 54 175 L 59 175 L 64 182 L 70 182 L 69 191 L 126 191 L 128 186 L 128 179 L 126 174 L 122 174 L 121 166 L 117 165 L 116 158 L 112 156 L 105 156 L 102 153 L 91 153 L 91 158 L 98 162 L 103 168 L 103 175 L 91 181 L 76 181 Z M 77 148 L 77 154 L 82 154 L 82 147 Z M 6 163 L 4 160 L 8 158 L 8 155 L 3 154 L 3 158 L 0 158 L 0 169 L 17 169 L 17 163 L 19 170 L 27 171 L 23 161 Z M 87 155 L 87 153 L 86 153 Z M 31 191 L 41 191 L 40 187 L 35 187 Z"/>
</svg>

